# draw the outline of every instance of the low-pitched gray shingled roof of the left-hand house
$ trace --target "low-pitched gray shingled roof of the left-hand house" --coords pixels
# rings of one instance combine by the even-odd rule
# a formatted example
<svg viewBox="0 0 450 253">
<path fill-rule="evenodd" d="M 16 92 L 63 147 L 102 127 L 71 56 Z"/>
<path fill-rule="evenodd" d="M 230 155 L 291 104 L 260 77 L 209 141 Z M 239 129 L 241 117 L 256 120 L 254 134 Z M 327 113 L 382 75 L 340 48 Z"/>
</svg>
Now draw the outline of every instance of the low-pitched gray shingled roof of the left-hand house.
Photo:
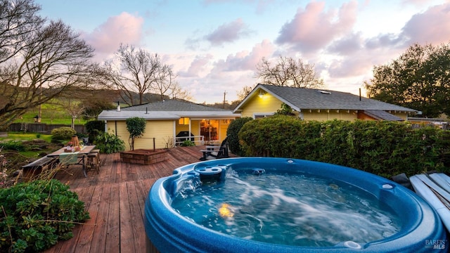
<svg viewBox="0 0 450 253">
<path fill-rule="evenodd" d="M 196 103 L 191 103 L 182 100 L 165 100 L 153 103 L 146 103 L 143 105 L 134 105 L 127 108 L 122 108 L 124 111 L 183 111 L 183 112 L 216 112 L 216 111 L 226 111 L 221 108 L 213 108 L 206 105 L 200 105 Z"/>
</svg>

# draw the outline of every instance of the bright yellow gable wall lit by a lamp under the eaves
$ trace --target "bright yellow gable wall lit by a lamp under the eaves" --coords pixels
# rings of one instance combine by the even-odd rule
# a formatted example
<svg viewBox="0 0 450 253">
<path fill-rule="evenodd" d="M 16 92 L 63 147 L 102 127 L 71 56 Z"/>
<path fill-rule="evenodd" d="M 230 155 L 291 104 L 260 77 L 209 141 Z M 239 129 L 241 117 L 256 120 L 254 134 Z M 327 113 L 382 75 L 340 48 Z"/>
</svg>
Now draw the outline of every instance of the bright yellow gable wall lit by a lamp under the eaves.
<svg viewBox="0 0 450 253">
<path fill-rule="evenodd" d="M 241 112 L 242 117 L 253 117 L 255 114 L 276 112 L 281 108 L 281 101 L 269 93 L 265 93 L 262 98 L 254 96 L 250 98 Z"/>
</svg>

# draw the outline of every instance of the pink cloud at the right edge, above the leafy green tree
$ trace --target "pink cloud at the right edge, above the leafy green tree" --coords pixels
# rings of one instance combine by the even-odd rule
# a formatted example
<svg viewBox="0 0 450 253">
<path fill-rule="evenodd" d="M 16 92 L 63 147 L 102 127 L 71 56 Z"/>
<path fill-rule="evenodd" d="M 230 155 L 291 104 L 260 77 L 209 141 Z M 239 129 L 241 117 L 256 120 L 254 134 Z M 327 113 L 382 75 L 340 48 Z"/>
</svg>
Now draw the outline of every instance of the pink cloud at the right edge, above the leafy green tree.
<svg viewBox="0 0 450 253">
<path fill-rule="evenodd" d="M 442 44 L 450 41 L 450 4 L 432 6 L 413 17 L 403 27 L 401 36 L 409 44 Z"/>
</svg>

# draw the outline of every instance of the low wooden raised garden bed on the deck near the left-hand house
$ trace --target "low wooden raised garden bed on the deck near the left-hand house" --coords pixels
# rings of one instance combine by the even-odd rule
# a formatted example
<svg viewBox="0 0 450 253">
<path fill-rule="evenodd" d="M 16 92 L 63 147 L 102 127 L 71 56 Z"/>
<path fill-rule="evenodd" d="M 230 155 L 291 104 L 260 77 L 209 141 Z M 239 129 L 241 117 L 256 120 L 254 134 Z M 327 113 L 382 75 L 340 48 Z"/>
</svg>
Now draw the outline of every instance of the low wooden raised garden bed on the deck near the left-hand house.
<svg viewBox="0 0 450 253">
<path fill-rule="evenodd" d="M 134 164 L 154 164 L 167 160 L 166 150 L 137 149 L 120 152 L 120 160 Z"/>
</svg>

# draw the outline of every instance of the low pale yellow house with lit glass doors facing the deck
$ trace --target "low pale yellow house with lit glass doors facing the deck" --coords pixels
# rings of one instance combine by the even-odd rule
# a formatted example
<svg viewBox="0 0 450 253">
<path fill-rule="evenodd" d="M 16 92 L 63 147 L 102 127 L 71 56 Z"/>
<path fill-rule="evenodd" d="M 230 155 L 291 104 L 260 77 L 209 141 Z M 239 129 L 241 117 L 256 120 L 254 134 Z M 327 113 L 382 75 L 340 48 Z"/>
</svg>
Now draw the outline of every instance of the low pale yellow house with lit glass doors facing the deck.
<svg viewBox="0 0 450 253">
<path fill-rule="evenodd" d="M 135 139 L 134 148 L 151 149 L 153 143 L 155 148 L 169 148 L 189 139 L 196 145 L 203 145 L 205 142 L 220 143 L 226 137 L 226 129 L 231 120 L 240 115 L 231 110 L 184 100 L 163 100 L 122 109 L 117 106 L 116 110 L 103 110 L 98 115 L 98 120 L 105 121 L 105 131 L 119 136 L 127 145 L 127 150 L 129 132 L 126 120 L 130 117 L 141 117 L 147 121 L 145 133 L 141 138 Z M 186 138 L 189 135 L 191 137 Z"/>
</svg>

